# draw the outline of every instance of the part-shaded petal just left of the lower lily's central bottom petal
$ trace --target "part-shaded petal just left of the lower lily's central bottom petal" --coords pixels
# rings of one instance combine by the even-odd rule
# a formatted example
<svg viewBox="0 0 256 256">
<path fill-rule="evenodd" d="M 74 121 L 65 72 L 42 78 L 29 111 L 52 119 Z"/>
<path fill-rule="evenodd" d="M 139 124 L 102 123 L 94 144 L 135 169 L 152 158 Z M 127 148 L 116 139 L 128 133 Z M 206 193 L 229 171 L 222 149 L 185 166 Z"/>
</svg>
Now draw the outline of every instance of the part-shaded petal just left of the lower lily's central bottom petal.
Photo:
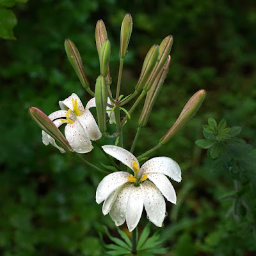
<svg viewBox="0 0 256 256">
<path fill-rule="evenodd" d="M 116 200 L 112 205 L 111 210 L 109 211 L 109 215 L 111 219 L 115 221 L 116 226 L 120 226 L 124 224 L 124 221 L 126 218 L 127 204 L 128 204 L 132 187 L 133 187 L 133 184 L 131 183 L 125 183 L 121 187 L 116 197 Z"/>
</svg>

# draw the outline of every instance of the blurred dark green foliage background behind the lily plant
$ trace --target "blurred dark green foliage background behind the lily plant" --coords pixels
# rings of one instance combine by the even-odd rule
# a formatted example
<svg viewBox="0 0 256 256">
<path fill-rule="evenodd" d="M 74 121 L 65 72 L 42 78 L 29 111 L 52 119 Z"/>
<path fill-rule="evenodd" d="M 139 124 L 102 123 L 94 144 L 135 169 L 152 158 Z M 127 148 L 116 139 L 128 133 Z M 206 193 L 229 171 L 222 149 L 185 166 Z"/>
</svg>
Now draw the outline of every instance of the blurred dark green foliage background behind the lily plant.
<svg viewBox="0 0 256 256">
<path fill-rule="evenodd" d="M 202 124 L 212 116 L 225 118 L 230 126 L 241 126 L 241 137 L 256 146 L 253 3 L 31 0 L 15 4 L 17 40 L 0 41 L 0 254 L 104 255 L 98 236 L 101 225 L 113 228 L 113 234 L 116 231 L 95 202 L 95 189 L 103 176 L 56 148 L 45 147 L 28 108 L 36 106 L 49 115 L 58 109 L 58 100 L 72 92 L 84 103 L 90 99 L 68 63 L 63 44 L 65 38 L 76 44 L 86 74 L 95 83 L 99 75 L 94 34 L 98 19 L 104 20 L 111 41 L 115 88 L 120 26 L 130 12 L 134 26 L 122 79 L 125 95 L 133 92 L 150 46 L 160 44 L 166 35 L 174 38 L 170 71 L 148 127 L 141 132 L 136 156 L 157 144 L 193 93 L 207 90 L 198 114 L 156 153 L 172 157 L 182 168 L 182 182 L 173 182 L 177 205 L 167 204 L 164 221 L 164 241 L 172 248 L 168 255 L 253 255 L 252 230 L 246 232 L 243 221 L 228 218 L 231 203 L 220 201 L 223 193 L 234 188 L 232 179 L 225 172 L 209 172 L 205 151 L 194 142 L 203 138 Z M 125 127 L 126 148 L 131 147 L 139 115 L 136 111 Z M 86 157 L 95 163 L 102 158 L 97 150 Z M 139 228 L 147 223 L 143 214 Z"/>
</svg>

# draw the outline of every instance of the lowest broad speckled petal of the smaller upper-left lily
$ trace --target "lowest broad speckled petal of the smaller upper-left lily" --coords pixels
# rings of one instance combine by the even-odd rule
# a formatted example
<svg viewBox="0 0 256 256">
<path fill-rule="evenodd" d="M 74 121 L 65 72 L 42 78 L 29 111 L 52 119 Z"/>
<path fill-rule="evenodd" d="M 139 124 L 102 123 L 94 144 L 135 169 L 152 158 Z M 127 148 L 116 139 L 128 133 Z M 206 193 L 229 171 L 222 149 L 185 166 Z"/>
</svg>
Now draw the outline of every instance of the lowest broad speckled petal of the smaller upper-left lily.
<svg viewBox="0 0 256 256">
<path fill-rule="evenodd" d="M 65 127 L 65 137 L 72 149 L 77 153 L 88 153 L 92 151 L 92 142 L 88 138 L 81 124 L 75 121 Z"/>
</svg>

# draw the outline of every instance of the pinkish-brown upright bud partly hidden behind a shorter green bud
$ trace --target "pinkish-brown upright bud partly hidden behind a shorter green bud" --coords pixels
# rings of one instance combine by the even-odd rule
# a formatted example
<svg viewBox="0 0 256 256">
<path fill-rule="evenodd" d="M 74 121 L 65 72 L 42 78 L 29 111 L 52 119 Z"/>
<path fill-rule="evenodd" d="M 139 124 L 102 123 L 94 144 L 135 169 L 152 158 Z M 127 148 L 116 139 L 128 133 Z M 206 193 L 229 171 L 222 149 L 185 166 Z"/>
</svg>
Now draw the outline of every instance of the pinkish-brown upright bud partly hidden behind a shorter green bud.
<svg viewBox="0 0 256 256">
<path fill-rule="evenodd" d="M 106 29 L 106 26 L 105 26 L 103 20 L 97 21 L 96 29 L 95 29 L 95 40 L 96 40 L 97 51 L 98 51 L 99 58 L 100 58 L 100 49 L 102 47 L 102 44 L 106 40 L 108 40 L 108 33 L 107 33 L 107 29 Z M 110 77 L 109 66 L 108 66 L 108 74 L 105 77 L 106 77 L 106 83 L 108 85 L 111 84 L 112 81 L 111 81 L 111 77 Z"/>
</svg>

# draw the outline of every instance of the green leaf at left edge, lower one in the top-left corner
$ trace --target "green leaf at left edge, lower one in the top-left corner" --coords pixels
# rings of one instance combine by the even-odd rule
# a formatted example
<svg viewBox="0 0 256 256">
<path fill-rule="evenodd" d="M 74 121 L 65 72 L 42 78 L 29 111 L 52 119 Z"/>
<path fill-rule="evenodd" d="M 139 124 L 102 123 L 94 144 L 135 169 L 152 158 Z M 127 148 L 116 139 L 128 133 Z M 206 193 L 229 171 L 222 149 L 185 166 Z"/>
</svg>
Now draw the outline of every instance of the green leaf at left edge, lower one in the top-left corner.
<svg viewBox="0 0 256 256">
<path fill-rule="evenodd" d="M 17 24 L 17 19 L 11 10 L 0 7 L 0 37 L 15 40 L 13 27 Z"/>
</svg>

